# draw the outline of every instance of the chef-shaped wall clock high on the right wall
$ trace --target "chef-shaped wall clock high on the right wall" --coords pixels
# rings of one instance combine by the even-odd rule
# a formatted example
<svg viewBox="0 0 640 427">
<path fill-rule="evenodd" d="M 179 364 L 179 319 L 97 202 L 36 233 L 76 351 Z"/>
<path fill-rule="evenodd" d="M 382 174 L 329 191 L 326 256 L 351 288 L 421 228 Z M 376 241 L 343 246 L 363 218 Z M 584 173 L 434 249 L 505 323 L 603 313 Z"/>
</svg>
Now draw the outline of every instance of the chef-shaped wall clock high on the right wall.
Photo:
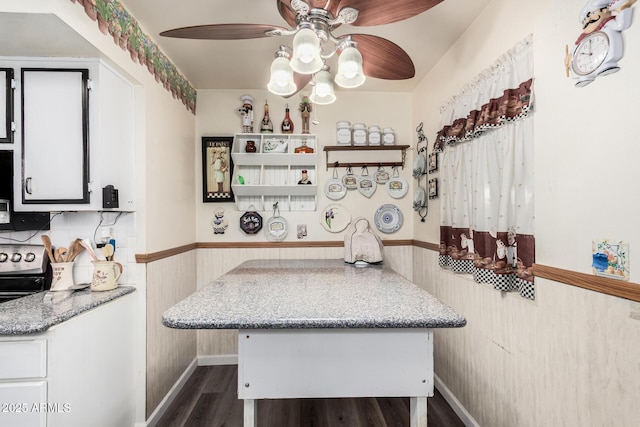
<svg viewBox="0 0 640 427">
<path fill-rule="evenodd" d="M 577 87 L 586 86 L 598 76 L 620 70 L 622 31 L 631 25 L 637 0 L 589 0 L 580 12 L 582 34 L 572 53 L 566 47 L 565 66 Z"/>
</svg>

